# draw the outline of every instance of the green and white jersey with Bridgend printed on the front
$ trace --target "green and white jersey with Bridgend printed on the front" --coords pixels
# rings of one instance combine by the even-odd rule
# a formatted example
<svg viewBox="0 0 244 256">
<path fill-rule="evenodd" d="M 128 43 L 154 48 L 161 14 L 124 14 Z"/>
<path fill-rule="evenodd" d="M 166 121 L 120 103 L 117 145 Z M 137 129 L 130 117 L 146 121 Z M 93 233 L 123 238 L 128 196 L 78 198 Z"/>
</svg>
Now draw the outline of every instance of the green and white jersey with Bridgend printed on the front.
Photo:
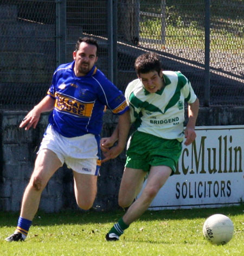
<svg viewBox="0 0 244 256">
<path fill-rule="evenodd" d="M 197 97 L 181 72 L 163 71 L 163 78 L 164 88 L 155 93 L 146 91 L 140 79 L 129 83 L 125 97 L 131 122 L 140 132 L 183 141 L 184 102 L 194 103 Z"/>
</svg>

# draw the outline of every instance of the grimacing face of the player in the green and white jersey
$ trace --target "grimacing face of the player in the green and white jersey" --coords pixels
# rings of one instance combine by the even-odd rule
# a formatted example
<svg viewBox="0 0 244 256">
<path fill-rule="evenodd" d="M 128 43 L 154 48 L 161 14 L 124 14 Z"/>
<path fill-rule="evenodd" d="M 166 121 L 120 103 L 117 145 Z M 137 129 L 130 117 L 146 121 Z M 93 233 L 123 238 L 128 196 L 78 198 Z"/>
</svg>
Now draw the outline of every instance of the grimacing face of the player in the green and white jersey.
<svg viewBox="0 0 244 256">
<path fill-rule="evenodd" d="M 157 71 L 150 71 L 149 73 L 140 73 L 139 78 L 143 83 L 144 88 L 150 92 L 156 92 L 163 88 L 162 72 L 160 76 Z"/>
</svg>

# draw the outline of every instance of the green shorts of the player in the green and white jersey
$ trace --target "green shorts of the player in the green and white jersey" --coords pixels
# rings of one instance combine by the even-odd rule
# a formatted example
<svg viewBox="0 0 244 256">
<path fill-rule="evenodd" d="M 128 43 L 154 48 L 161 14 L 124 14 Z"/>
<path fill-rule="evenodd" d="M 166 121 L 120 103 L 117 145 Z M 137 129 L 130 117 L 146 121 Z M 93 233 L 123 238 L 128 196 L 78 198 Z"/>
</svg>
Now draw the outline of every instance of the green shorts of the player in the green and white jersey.
<svg viewBox="0 0 244 256">
<path fill-rule="evenodd" d="M 169 166 L 174 174 L 182 152 L 182 142 L 176 139 L 167 140 L 138 131 L 133 133 L 128 146 L 125 167 L 146 172 L 151 166 L 164 165 Z"/>
</svg>

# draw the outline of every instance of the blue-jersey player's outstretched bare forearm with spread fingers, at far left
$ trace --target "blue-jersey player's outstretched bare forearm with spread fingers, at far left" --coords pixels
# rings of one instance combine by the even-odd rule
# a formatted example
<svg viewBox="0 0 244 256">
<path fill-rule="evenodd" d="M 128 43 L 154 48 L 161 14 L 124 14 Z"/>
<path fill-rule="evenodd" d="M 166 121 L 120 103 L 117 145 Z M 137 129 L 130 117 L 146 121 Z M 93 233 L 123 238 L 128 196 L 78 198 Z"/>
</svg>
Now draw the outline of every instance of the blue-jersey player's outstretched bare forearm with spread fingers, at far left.
<svg viewBox="0 0 244 256">
<path fill-rule="evenodd" d="M 24 117 L 20 124 L 20 128 L 25 127 L 25 130 L 29 130 L 30 127 L 36 128 L 36 125 L 40 119 L 41 113 L 50 111 L 54 108 L 55 99 L 46 96 L 38 103 L 30 112 Z"/>
</svg>

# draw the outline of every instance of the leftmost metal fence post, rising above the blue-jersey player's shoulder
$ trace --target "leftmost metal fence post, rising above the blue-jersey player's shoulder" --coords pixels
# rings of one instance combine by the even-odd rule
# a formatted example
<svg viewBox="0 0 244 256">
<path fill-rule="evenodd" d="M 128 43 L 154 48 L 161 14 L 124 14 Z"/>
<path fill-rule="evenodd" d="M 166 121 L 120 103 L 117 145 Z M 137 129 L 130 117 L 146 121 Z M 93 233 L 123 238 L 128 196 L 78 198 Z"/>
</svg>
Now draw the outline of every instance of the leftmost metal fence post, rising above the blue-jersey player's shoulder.
<svg viewBox="0 0 244 256">
<path fill-rule="evenodd" d="M 66 0 L 56 1 L 56 66 L 66 63 Z"/>
</svg>

